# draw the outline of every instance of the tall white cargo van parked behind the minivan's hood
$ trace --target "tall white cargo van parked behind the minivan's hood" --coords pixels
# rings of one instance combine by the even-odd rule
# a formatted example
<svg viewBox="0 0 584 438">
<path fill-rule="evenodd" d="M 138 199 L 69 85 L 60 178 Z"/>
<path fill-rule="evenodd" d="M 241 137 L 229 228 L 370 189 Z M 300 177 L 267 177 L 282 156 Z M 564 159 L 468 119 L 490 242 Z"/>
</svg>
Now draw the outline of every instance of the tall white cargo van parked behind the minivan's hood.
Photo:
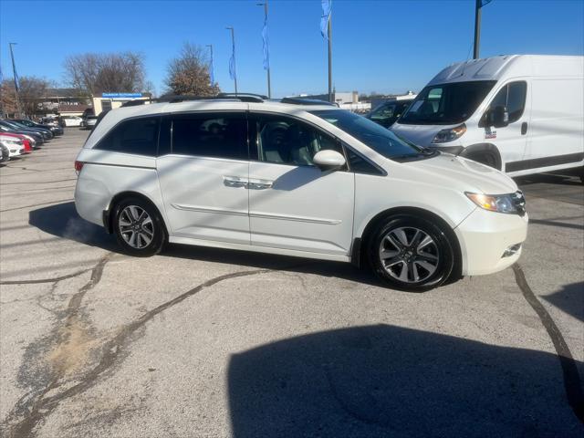
<svg viewBox="0 0 584 438">
<path fill-rule="evenodd" d="M 511 176 L 583 169 L 583 85 L 584 57 L 461 62 L 438 73 L 391 130 Z"/>
</svg>

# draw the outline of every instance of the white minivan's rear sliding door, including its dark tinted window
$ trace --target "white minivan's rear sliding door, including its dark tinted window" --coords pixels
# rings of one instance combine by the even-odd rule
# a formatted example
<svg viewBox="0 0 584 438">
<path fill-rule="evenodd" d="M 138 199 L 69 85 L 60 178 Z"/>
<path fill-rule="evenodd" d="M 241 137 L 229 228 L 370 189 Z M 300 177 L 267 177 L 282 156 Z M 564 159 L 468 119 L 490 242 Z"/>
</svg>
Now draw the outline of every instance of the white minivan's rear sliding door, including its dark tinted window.
<svg viewBox="0 0 584 438">
<path fill-rule="evenodd" d="M 171 235 L 249 245 L 245 111 L 168 116 L 165 136 L 157 169 Z"/>
</svg>

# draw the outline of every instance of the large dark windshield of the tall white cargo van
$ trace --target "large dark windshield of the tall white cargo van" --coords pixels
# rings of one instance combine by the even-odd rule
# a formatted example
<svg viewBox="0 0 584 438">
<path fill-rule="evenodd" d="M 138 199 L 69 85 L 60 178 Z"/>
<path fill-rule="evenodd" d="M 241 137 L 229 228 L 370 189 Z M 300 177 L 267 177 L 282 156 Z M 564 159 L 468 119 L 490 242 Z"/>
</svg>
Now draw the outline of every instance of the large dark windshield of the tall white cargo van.
<svg viewBox="0 0 584 438">
<path fill-rule="evenodd" d="M 471 117 L 495 80 L 430 85 L 413 101 L 398 123 L 405 125 L 450 125 Z"/>
</svg>

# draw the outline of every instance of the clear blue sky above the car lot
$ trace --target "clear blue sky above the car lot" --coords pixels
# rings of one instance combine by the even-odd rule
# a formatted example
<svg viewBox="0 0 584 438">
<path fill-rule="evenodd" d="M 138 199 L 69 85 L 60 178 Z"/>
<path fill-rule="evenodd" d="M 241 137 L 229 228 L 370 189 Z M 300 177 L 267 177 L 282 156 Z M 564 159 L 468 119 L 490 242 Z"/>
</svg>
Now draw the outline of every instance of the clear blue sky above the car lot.
<svg viewBox="0 0 584 438">
<path fill-rule="evenodd" d="M 0 66 L 12 77 L 8 42 L 16 42 L 19 76 L 67 86 L 66 57 L 132 50 L 145 56 L 147 78 L 162 93 L 169 60 L 189 41 L 213 45 L 215 80 L 233 92 L 225 29 L 233 26 L 238 89 L 266 94 L 258 2 L 0 0 Z M 327 91 L 320 14 L 320 0 L 269 1 L 273 97 Z M 493 0 L 482 16 L 481 57 L 584 55 L 584 0 Z M 474 0 L 333 0 L 333 83 L 360 93 L 420 90 L 445 66 L 472 57 L 473 36 Z"/>
</svg>

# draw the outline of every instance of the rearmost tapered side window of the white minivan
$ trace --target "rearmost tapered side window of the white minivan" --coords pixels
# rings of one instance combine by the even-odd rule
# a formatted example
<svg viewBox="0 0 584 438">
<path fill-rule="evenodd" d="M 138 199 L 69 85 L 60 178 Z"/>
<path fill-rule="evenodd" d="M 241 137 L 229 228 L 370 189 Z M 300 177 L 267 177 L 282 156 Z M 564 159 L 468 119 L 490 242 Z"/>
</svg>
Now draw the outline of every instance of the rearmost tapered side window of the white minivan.
<svg viewBox="0 0 584 438">
<path fill-rule="evenodd" d="M 158 117 L 122 121 L 94 149 L 156 156 Z"/>
</svg>

